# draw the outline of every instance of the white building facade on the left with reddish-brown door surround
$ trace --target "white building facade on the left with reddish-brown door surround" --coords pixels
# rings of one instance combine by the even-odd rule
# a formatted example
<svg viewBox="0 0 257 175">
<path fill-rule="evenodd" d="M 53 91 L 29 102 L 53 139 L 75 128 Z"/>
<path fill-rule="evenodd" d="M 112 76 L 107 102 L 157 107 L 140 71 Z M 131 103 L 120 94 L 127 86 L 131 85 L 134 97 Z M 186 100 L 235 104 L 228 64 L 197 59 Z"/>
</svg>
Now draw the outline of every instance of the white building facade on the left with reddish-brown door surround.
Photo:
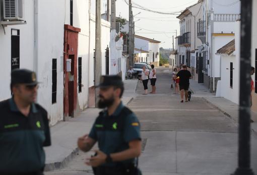
<svg viewBox="0 0 257 175">
<path fill-rule="evenodd" d="M 0 100 L 11 97 L 12 69 L 33 70 L 41 82 L 37 102 L 48 111 L 50 125 L 54 125 L 89 107 L 90 100 L 94 104 L 90 98 L 90 88 L 95 86 L 94 15 L 90 1 L 26 0 L 22 7 L 26 24 L 17 20 L 19 24 L 10 25 L 1 15 L 5 25 L 0 28 L 1 73 L 5 76 L 1 77 Z M 0 9 L 3 11 L 3 6 Z M 109 32 L 110 23 L 102 20 L 102 74 L 106 73 Z"/>
</svg>

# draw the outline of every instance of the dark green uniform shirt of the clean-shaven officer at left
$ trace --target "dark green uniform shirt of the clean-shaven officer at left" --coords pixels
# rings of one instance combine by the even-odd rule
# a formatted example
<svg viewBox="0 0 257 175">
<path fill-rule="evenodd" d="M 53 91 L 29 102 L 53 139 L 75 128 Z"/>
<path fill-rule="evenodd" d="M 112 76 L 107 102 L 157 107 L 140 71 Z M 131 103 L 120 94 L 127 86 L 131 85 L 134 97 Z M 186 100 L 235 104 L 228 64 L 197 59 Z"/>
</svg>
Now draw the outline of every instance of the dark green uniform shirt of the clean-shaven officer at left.
<svg viewBox="0 0 257 175">
<path fill-rule="evenodd" d="M 26 117 L 11 98 L 0 102 L 0 113 L 0 174 L 42 169 L 43 146 L 51 145 L 46 110 L 32 103 Z"/>
</svg>

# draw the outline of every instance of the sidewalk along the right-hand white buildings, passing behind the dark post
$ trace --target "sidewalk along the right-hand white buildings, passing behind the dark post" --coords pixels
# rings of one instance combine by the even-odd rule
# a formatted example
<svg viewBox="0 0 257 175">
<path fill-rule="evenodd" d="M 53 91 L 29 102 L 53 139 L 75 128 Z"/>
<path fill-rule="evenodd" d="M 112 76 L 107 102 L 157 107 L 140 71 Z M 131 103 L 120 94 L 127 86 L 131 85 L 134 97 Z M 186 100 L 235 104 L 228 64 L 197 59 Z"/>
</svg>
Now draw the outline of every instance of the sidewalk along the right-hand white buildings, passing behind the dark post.
<svg viewBox="0 0 257 175">
<path fill-rule="evenodd" d="M 190 80 L 190 90 L 193 93 L 192 98 L 202 97 L 207 103 L 215 106 L 220 112 L 230 117 L 236 124 L 238 123 L 239 105 L 226 98 L 216 97 L 215 94 L 210 93 L 209 89 L 203 84 L 199 84 L 194 80 Z M 254 122 L 251 123 L 251 129 L 253 133 L 257 135 L 257 113 L 251 111 L 251 118 L 254 120 Z"/>
</svg>

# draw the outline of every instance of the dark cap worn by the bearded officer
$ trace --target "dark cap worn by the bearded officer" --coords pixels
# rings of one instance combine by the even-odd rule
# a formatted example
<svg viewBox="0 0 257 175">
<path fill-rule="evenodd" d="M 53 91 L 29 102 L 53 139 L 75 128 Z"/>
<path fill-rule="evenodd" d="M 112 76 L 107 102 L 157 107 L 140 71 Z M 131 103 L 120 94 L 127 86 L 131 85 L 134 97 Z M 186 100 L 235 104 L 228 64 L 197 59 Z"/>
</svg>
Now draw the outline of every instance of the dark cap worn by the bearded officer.
<svg viewBox="0 0 257 175">
<path fill-rule="evenodd" d="M 118 75 L 103 75 L 100 79 L 100 84 L 97 87 L 100 88 L 108 88 L 110 86 L 123 88 L 124 84 L 122 79 Z"/>
</svg>

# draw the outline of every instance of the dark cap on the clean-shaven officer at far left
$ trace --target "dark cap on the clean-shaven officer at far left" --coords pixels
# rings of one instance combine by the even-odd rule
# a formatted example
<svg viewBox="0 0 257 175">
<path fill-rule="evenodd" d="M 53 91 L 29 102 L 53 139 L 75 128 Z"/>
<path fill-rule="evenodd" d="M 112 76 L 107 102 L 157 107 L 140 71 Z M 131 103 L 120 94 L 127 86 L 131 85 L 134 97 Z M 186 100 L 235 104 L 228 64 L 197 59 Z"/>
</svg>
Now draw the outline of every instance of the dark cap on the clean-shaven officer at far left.
<svg viewBox="0 0 257 175">
<path fill-rule="evenodd" d="M 27 69 L 14 69 L 11 72 L 11 85 L 15 84 L 37 85 L 36 73 Z"/>
</svg>

